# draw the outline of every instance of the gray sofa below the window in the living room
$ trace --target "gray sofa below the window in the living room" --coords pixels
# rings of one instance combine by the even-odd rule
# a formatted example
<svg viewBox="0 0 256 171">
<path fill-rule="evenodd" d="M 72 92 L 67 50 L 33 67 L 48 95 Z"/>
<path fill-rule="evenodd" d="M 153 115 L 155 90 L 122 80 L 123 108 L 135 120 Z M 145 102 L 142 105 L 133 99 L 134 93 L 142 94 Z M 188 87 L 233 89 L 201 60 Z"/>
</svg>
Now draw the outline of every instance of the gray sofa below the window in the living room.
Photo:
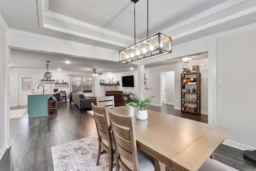
<svg viewBox="0 0 256 171">
<path fill-rule="evenodd" d="M 91 103 L 96 105 L 96 97 L 84 96 L 81 93 L 72 92 L 69 102 L 73 102 L 80 110 L 82 110 L 84 108 L 91 108 Z"/>
</svg>

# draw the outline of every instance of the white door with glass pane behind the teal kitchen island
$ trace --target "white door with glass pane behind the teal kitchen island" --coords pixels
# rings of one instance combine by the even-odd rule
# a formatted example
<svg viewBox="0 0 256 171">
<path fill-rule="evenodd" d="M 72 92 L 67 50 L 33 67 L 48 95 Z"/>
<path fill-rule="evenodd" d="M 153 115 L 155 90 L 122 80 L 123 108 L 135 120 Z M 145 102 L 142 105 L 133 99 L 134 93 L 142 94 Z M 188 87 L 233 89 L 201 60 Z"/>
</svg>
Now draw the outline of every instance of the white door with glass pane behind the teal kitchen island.
<svg viewBox="0 0 256 171">
<path fill-rule="evenodd" d="M 35 89 L 34 75 L 19 75 L 19 101 L 18 105 L 28 105 L 27 94 Z"/>
</svg>

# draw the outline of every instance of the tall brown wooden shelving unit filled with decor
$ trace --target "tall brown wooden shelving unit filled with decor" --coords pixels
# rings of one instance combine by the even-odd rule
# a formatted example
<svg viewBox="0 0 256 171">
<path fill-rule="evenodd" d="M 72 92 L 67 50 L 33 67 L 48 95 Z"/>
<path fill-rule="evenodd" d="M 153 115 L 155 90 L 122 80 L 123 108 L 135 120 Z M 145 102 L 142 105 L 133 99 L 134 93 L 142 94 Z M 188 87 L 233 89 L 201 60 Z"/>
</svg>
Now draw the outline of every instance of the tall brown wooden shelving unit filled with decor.
<svg viewBox="0 0 256 171">
<path fill-rule="evenodd" d="M 184 82 L 186 78 L 193 78 L 195 82 Z M 201 114 L 201 73 L 192 72 L 180 74 L 181 89 L 180 89 L 180 111 Z"/>
</svg>

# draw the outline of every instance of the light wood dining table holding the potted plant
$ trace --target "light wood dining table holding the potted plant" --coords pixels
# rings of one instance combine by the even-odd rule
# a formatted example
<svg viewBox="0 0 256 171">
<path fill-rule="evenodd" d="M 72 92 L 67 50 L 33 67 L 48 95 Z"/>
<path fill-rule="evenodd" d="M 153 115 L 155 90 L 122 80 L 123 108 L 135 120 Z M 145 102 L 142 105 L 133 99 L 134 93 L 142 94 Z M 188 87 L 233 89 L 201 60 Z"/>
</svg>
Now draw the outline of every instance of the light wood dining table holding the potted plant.
<svg viewBox="0 0 256 171">
<path fill-rule="evenodd" d="M 174 171 L 196 171 L 231 133 L 231 129 L 148 110 L 148 119 L 136 119 L 137 108 L 114 107 L 114 113 L 132 116 L 137 147 L 154 157 L 156 170 L 164 164 Z M 93 117 L 93 112 L 87 112 Z"/>
</svg>

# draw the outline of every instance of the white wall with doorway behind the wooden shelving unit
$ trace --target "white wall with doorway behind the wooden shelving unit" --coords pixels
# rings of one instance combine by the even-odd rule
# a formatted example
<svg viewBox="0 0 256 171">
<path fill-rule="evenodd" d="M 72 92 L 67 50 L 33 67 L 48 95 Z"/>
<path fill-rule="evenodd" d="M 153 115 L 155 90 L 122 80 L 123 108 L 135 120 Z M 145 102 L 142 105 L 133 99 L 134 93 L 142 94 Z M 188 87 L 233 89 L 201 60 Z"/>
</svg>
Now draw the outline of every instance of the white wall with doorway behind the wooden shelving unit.
<svg viewBox="0 0 256 171">
<path fill-rule="evenodd" d="M 205 67 L 201 67 L 201 64 L 206 64 Z M 145 90 L 146 97 L 155 95 L 152 99 L 152 104 L 160 106 L 160 72 L 166 70 L 174 70 L 175 80 L 175 104 L 174 108 L 180 110 L 180 74 L 183 72 L 183 68 L 190 68 L 192 70 L 193 65 L 200 66 L 201 72 L 201 112 L 208 113 L 208 59 L 193 60 L 189 63 L 176 63 L 165 66 L 158 66 L 153 68 L 145 68 L 147 74 L 147 86 L 152 87 L 151 90 Z"/>
</svg>

